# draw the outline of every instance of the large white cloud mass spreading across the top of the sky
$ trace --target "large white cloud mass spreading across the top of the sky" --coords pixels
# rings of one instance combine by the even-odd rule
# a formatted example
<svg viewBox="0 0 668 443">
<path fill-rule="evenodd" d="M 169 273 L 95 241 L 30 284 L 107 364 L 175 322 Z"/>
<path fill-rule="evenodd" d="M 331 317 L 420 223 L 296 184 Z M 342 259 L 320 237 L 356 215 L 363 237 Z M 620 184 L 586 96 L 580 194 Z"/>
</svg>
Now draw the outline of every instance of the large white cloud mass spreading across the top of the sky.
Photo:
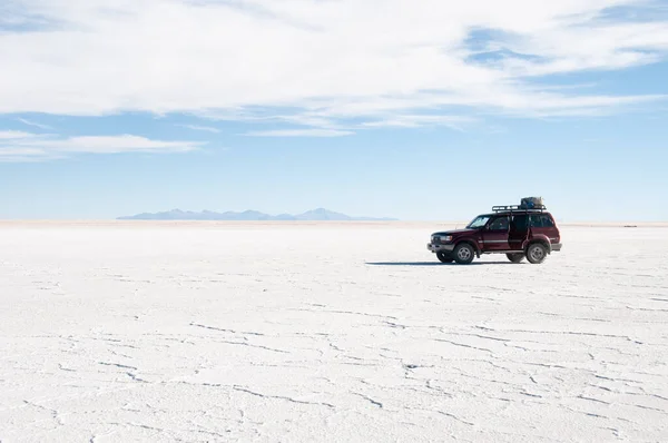
<svg viewBox="0 0 668 443">
<path fill-rule="evenodd" d="M 648 98 L 584 96 L 531 81 L 651 63 L 668 52 L 668 21 L 651 18 L 658 0 L 12 4 L 7 20 L 33 30 L 0 33 L 0 114 L 183 111 L 248 119 L 261 107 L 281 109 L 271 118 L 331 130 L 343 130 L 336 125 L 345 119 L 396 122 L 405 115 L 450 115 L 452 107 L 592 115 Z M 615 7 L 642 7 L 651 20 L 606 14 Z M 503 50 L 495 52 L 501 59 L 475 57 L 489 50 Z"/>
</svg>

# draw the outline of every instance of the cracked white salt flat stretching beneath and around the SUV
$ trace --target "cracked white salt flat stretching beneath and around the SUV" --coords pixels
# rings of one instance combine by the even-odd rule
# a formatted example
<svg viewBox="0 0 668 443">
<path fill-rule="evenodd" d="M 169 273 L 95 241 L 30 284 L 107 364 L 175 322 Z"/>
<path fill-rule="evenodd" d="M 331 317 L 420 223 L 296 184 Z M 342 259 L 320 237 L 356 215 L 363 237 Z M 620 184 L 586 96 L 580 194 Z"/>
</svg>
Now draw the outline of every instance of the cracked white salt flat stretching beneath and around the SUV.
<svg viewBox="0 0 668 443">
<path fill-rule="evenodd" d="M 0 224 L 0 440 L 668 440 L 668 228 L 443 228 Z"/>
</svg>

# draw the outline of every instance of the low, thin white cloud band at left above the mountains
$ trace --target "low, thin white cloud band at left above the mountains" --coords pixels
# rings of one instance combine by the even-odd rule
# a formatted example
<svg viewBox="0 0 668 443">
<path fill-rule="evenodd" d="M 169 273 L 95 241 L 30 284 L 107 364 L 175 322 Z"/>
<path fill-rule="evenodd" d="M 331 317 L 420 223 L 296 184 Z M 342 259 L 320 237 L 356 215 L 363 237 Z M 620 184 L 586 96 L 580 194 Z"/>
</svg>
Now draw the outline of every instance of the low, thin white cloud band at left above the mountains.
<svg viewBox="0 0 668 443">
<path fill-rule="evenodd" d="M 45 160 L 72 154 L 186 152 L 204 145 L 131 135 L 53 138 L 16 131 L 17 137 L 1 137 L 3 134 L 10 132 L 0 132 L 0 161 Z"/>
</svg>

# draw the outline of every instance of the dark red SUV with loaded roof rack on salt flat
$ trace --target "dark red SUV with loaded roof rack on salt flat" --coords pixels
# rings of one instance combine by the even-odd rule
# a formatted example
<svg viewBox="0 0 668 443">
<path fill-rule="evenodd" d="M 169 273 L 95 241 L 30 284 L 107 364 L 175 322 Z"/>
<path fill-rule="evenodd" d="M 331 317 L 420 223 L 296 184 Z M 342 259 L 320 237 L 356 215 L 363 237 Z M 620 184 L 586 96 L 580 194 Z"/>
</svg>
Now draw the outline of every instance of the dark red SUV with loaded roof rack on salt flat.
<svg viewBox="0 0 668 443">
<path fill-rule="evenodd" d="M 434 233 L 426 248 L 443 263 L 469 264 L 481 254 L 505 254 L 520 263 L 527 257 L 542 263 L 561 250 L 561 235 L 546 207 L 494 206 L 491 214 L 479 215 L 465 229 Z"/>
</svg>

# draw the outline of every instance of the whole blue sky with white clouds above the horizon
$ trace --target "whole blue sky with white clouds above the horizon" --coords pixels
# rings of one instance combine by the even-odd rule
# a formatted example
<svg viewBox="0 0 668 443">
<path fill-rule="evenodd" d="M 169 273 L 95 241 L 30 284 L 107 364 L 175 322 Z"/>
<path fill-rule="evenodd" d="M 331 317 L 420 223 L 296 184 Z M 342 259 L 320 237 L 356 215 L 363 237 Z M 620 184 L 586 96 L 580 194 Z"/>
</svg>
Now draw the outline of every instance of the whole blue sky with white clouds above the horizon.
<svg viewBox="0 0 668 443">
<path fill-rule="evenodd" d="M 473 3 L 9 2 L 0 218 L 668 220 L 665 2 Z"/>
</svg>

